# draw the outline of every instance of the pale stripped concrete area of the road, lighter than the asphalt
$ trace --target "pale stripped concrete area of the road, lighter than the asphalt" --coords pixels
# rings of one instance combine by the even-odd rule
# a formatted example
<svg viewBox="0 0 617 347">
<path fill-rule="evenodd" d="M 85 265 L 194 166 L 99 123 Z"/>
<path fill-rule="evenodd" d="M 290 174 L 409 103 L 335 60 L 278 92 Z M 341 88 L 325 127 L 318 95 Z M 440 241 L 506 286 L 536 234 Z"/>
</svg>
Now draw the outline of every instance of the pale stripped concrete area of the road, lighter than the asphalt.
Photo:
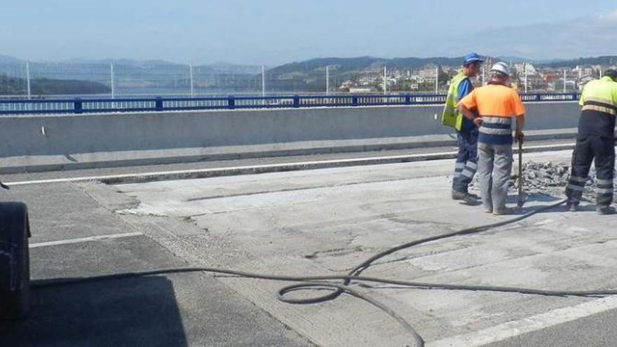
<svg viewBox="0 0 617 347">
<path fill-rule="evenodd" d="M 567 160 L 570 154 L 527 157 L 555 161 Z M 118 212 L 130 212 L 121 217 L 149 224 L 156 230 L 151 232 L 155 240 L 185 254 L 192 264 L 292 275 L 344 273 L 393 245 L 508 218 L 485 215 L 480 207 L 449 200 L 452 166 L 452 161 L 433 161 L 127 184 L 116 188 L 141 203 Z M 561 196 L 531 194 L 526 208 L 557 198 Z M 511 196 L 510 203 L 515 201 Z M 170 219 L 154 226 L 148 222 L 153 218 L 149 215 Z M 617 221 L 606 216 L 598 225 L 597 218 L 585 211 L 564 214 L 551 210 L 482 235 L 404 250 L 377 261 L 365 274 L 546 289 L 616 287 L 617 241 L 611 231 L 617 228 Z M 187 228 L 198 231 L 182 231 Z M 317 306 L 290 306 L 273 296 L 280 283 L 221 280 L 322 346 L 408 343 L 409 336 L 395 322 L 351 298 Z M 469 332 L 593 300 L 385 285 L 361 288 L 395 308 L 435 346 Z M 576 336 L 564 336 L 543 346 L 581 342 Z M 464 346 L 475 346 L 467 337 L 464 341 Z"/>
</svg>

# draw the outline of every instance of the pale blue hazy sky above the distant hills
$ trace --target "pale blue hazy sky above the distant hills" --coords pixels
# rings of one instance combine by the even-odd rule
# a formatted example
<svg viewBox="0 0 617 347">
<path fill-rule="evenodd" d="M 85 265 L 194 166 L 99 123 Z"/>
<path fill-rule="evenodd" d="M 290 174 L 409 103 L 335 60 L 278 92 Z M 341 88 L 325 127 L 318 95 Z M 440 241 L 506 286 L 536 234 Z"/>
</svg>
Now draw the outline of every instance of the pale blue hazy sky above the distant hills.
<svg viewBox="0 0 617 347">
<path fill-rule="evenodd" d="M 1 0 L 0 11 L 0 55 L 31 61 L 617 54 L 614 0 Z"/>
</svg>

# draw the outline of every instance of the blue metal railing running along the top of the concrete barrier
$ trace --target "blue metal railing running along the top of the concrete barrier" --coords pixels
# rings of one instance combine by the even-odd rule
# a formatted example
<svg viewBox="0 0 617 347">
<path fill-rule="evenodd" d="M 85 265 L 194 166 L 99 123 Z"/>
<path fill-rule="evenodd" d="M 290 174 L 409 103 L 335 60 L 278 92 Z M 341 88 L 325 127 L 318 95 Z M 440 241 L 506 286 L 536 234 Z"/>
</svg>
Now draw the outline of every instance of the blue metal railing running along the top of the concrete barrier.
<svg viewBox="0 0 617 347">
<path fill-rule="evenodd" d="M 578 100 L 578 93 L 522 94 L 524 102 Z M 276 109 L 443 104 L 446 95 L 286 95 L 227 97 L 150 97 L 0 100 L 0 115 L 93 114 L 101 112 L 186 111 L 209 109 Z"/>
</svg>

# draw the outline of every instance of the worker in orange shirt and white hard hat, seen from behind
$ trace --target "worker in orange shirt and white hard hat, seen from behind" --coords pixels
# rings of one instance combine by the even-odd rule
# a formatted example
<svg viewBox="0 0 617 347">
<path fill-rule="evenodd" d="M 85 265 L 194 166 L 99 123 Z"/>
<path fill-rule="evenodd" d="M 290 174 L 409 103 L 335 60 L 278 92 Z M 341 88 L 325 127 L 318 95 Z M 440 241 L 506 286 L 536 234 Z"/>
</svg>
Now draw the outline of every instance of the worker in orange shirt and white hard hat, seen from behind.
<svg viewBox="0 0 617 347">
<path fill-rule="evenodd" d="M 508 182 L 512 170 L 512 123 L 515 137 L 523 140 L 525 109 L 518 93 L 510 86 L 510 69 L 503 62 L 491 67 L 491 81 L 473 90 L 459 102 L 459 111 L 479 128 L 477 175 L 484 212 L 509 215 L 506 207 Z"/>
</svg>

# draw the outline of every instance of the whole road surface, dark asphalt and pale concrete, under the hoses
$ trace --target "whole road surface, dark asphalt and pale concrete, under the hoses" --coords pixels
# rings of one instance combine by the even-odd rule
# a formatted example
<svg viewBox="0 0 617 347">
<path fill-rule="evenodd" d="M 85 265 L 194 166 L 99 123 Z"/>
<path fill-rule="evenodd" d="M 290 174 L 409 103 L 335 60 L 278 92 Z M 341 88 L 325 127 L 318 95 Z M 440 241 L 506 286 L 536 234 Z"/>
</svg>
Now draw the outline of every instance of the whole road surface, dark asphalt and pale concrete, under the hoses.
<svg viewBox="0 0 617 347">
<path fill-rule="evenodd" d="M 568 161 L 570 154 L 529 154 L 527 159 Z M 117 186 L 26 184 L 11 197 L 31 206 L 35 278 L 168 266 L 335 275 L 388 247 L 510 218 L 450 200 L 452 168 L 452 161 L 430 161 Z M 560 198 L 531 195 L 523 212 Z M 617 289 L 617 216 L 593 211 L 590 205 L 567 213 L 556 207 L 499 229 L 396 252 L 363 274 L 545 290 Z M 102 235 L 110 238 L 97 238 Z M 93 309 L 79 313 L 79 322 L 94 317 L 109 324 L 102 325 L 104 332 L 120 332 L 133 343 L 154 334 L 144 341 L 167 346 L 174 341 L 187 346 L 413 346 L 398 322 L 348 295 L 290 305 L 276 298 L 277 290 L 290 283 L 198 273 L 123 281 L 86 285 L 80 300 Z M 405 318 L 427 346 L 614 346 L 617 341 L 617 297 L 352 286 Z M 83 306 L 70 302 L 67 290 L 56 292 L 60 299 L 55 302 L 72 310 Z M 318 294 L 323 291 L 292 295 Z M 107 309 L 105 300 L 116 306 Z M 148 304 L 159 301 L 162 308 Z M 70 342 L 74 335 L 67 325 L 76 320 L 37 302 L 39 320 L 31 327 L 43 337 L 36 341 L 51 341 L 43 339 L 50 334 L 44 322 L 57 321 L 63 333 L 53 342 Z M 139 305 L 126 309 L 118 302 Z M 128 326 L 137 320 L 146 323 L 135 323 L 133 334 Z M 76 330 L 83 336 L 75 337 L 74 345 L 104 334 L 92 326 Z"/>
</svg>

